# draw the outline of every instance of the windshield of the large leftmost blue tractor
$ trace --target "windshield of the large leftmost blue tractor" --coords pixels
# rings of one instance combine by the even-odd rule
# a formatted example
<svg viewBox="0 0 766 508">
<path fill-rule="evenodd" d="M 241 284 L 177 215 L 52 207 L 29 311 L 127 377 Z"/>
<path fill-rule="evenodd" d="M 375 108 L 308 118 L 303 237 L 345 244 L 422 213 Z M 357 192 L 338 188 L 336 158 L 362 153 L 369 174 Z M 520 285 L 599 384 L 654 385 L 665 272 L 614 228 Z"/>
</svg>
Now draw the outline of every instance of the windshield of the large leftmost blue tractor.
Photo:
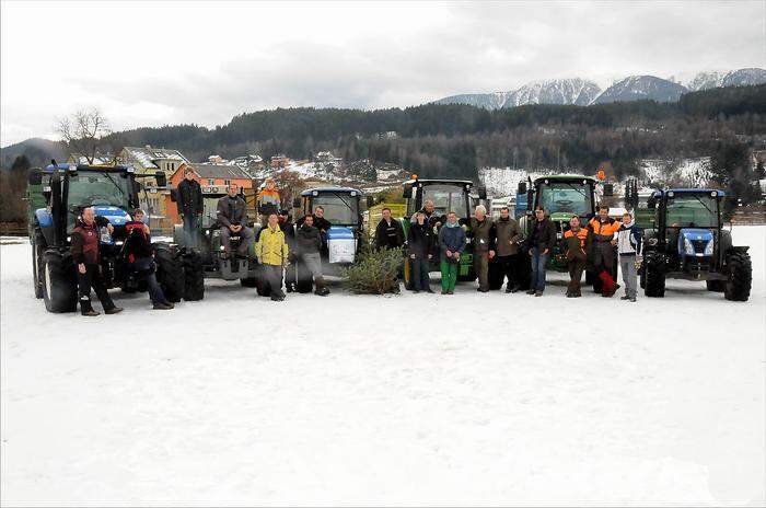
<svg viewBox="0 0 766 508">
<path fill-rule="evenodd" d="M 118 173 L 79 171 L 69 178 L 71 206 L 107 205 L 127 208 L 128 178 Z"/>
</svg>

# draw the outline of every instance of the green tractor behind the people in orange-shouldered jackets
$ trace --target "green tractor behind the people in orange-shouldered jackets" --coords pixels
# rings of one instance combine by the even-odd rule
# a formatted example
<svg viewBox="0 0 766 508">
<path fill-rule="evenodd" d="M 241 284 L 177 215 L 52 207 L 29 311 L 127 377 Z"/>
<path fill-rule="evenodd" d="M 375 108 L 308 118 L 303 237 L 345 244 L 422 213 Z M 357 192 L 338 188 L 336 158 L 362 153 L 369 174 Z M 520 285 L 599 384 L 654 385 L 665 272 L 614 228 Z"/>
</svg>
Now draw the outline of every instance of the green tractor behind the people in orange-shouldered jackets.
<svg viewBox="0 0 766 508">
<path fill-rule="evenodd" d="M 564 238 L 564 232 L 569 228 L 569 220 L 578 216 L 584 227 L 595 217 L 597 200 L 600 197 L 611 197 L 614 193 L 612 184 L 602 184 L 601 181 L 581 174 L 547 175 L 520 182 L 517 190 L 517 217 L 524 239 L 529 238 L 534 224 L 533 210 L 537 206 L 545 209 L 546 215 L 556 224 L 556 236 Z M 523 207 L 522 210 L 519 208 Z M 615 262 L 613 264 L 613 277 L 617 277 L 617 250 L 615 249 Z M 519 270 L 522 277 L 521 287 L 530 286 L 531 266 L 526 255 L 521 256 L 522 267 Z M 567 272 L 567 257 L 561 250 L 560 242 L 556 242 L 548 267 L 555 272 Z M 590 268 L 590 266 L 589 266 Z M 592 269 L 585 272 L 587 284 L 597 285 L 599 278 Z"/>
</svg>

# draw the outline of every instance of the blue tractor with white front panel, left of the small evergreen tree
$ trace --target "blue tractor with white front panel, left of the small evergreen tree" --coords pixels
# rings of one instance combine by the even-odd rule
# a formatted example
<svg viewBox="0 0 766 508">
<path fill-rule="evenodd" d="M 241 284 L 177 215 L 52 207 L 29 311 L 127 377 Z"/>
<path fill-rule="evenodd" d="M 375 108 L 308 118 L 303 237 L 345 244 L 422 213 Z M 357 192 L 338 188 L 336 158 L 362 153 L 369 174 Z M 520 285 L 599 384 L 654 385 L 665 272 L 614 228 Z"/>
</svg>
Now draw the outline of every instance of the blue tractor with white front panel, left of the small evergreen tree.
<svg viewBox="0 0 766 508">
<path fill-rule="evenodd" d="M 301 193 L 293 200 L 293 216 L 297 219 L 311 215 L 317 206 L 324 209 L 324 218 L 332 227 L 326 231 L 321 251 L 322 273 L 338 276 L 341 268 L 350 266 L 364 243 L 362 220 L 362 197 L 364 193 L 350 187 L 317 187 Z M 365 205 L 372 206 L 372 196 L 367 196 Z M 297 227 L 301 224 L 295 220 Z M 311 275 L 295 263 L 298 292 L 311 291 Z"/>
</svg>

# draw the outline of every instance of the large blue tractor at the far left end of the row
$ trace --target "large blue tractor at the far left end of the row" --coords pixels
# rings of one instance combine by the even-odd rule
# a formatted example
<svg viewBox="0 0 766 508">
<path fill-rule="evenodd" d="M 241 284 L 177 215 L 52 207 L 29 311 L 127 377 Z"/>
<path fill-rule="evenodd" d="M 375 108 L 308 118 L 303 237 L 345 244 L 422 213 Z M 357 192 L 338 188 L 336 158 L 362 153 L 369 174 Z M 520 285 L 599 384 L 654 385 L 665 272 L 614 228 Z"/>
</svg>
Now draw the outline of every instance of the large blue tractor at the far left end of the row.
<svg viewBox="0 0 766 508">
<path fill-rule="evenodd" d="M 156 185 L 166 185 L 164 173 L 136 174 L 131 166 L 53 164 L 30 171 L 26 199 L 28 204 L 32 276 L 35 297 L 49 312 L 73 312 L 77 309 L 77 268 L 70 254 L 70 238 L 80 212 L 93 207 L 95 215 L 108 219 L 114 227 L 100 232 L 101 268 L 108 288 L 134 292 L 146 290 L 146 282 L 131 267 L 125 253 L 129 210 L 139 205 L 139 178 L 151 177 Z M 150 224 L 151 227 L 151 224 Z M 179 251 L 166 242 L 155 242 L 154 259 L 158 280 L 165 297 L 174 302 L 182 298 L 198 300 L 196 289 L 201 274 L 185 270 L 194 265 L 195 253 Z M 195 280 L 199 279 L 199 280 Z M 189 290 L 195 288 L 194 291 Z"/>
</svg>

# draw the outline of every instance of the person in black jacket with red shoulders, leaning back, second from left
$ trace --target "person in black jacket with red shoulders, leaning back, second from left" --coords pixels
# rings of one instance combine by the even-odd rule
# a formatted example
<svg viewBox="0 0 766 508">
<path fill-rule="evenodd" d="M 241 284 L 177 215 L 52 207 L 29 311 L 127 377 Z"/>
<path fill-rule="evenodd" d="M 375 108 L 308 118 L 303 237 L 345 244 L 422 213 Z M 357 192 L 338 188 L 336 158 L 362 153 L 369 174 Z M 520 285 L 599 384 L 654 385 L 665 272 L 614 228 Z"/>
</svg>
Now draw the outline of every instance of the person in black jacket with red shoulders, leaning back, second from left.
<svg viewBox="0 0 766 508">
<path fill-rule="evenodd" d="M 125 239 L 125 254 L 128 263 L 139 277 L 146 278 L 149 289 L 149 299 L 154 310 L 173 309 L 173 303 L 167 301 L 162 288 L 154 276 L 154 252 L 149 227 L 143 223 L 143 210 L 134 210 L 134 220 L 125 224 L 127 238 Z"/>
</svg>

